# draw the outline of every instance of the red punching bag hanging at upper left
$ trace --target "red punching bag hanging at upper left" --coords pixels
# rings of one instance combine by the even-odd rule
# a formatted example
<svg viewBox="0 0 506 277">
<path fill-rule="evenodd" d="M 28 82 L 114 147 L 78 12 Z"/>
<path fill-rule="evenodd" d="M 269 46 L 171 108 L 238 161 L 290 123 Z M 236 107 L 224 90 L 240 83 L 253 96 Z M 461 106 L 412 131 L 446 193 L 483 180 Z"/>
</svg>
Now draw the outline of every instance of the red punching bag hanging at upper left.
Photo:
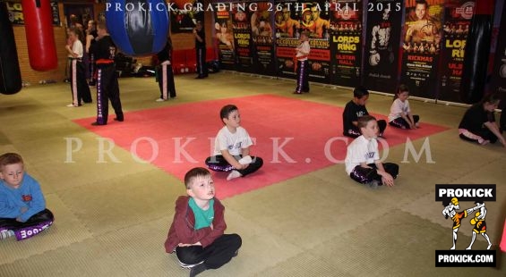
<svg viewBox="0 0 506 277">
<path fill-rule="evenodd" d="M 49 0 L 21 0 L 30 66 L 35 71 L 56 69 L 55 34 Z"/>
</svg>

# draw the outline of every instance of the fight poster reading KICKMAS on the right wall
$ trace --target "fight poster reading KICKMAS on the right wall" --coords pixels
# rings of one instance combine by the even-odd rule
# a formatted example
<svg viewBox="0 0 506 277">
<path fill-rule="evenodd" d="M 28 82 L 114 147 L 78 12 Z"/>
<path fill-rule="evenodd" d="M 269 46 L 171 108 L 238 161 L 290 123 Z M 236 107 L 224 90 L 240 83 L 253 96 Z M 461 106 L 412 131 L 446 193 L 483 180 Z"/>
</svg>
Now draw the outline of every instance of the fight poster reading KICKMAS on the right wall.
<svg viewBox="0 0 506 277">
<path fill-rule="evenodd" d="M 417 4 L 418 3 L 418 4 Z M 400 82 L 416 97 L 437 97 L 444 0 L 406 0 Z"/>
</svg>

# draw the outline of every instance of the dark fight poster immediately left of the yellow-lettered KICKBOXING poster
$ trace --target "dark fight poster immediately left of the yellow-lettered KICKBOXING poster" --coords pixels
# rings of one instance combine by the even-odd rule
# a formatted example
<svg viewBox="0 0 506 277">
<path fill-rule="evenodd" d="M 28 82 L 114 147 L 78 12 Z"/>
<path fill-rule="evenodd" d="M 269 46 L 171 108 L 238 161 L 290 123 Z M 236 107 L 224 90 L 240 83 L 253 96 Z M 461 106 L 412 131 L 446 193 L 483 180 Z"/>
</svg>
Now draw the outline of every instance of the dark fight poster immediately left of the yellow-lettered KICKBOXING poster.
<svg viewBox="0 0 506 277">
<path fill-rule="evenodd" d="M 256 11 L 250 10 L 253 69 L 268 76 L 276 75 L 276 61 L 273 45 L 273 16 L 270 2 L 257 2 Z"/>
</svg>

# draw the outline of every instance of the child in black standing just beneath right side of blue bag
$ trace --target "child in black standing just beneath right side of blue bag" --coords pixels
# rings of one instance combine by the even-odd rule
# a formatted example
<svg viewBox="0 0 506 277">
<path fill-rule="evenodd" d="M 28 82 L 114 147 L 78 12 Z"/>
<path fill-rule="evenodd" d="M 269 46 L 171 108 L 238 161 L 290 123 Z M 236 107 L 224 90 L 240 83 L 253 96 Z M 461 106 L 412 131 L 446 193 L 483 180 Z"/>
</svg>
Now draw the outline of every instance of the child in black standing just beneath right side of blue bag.
<svg viewBox="0 0 506 277">
<path fill-rule="evenodd" d="M 167 38 L 167 44 L 162 51 L 157 54 L 159 66 L 157 67 L 160 97 L 155 101 L 167 101 L 168 97 L 176 97 L 176 87 L 174 84 L 174 72 L 172 71 L 172 39 Z"/>
</svg>

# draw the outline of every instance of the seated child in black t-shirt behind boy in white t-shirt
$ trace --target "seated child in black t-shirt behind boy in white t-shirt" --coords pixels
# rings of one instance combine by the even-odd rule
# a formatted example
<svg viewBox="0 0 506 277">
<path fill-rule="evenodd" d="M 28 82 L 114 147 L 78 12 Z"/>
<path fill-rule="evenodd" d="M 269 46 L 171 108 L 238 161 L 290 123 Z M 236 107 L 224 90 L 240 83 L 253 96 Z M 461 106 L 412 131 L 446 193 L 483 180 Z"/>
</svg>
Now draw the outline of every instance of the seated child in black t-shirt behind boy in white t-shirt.
<svg viewBox="0 0 506 277">
<path fill-rule="evenodd" d="M 358 138 L 361 133 L 358 129 L 358 118 L 364 115 L 369 115 L 365 108 L 365 102 L 369 99 L 369 91 L 364 87 L 357 87 L 353 90 L 353 100 L 349 101 L 343 111 L 343 135 L 350 138 Z M 379 136 L 383 136 L 383 132 L 387 128 L 387 122 L 379 120 L 378 127 L 380 128 Z"/>
</svg>

